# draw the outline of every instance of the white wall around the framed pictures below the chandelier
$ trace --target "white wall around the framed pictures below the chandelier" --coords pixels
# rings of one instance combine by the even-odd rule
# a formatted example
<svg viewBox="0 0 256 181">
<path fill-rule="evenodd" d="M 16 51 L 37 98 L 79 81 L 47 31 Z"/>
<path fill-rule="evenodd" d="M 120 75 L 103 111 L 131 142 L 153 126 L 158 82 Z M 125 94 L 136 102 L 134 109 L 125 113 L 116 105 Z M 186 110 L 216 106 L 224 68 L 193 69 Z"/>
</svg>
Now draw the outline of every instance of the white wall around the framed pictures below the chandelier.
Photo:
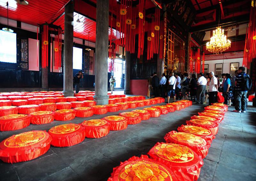
<svg viewBox="0 0 256 181">
<path fill-rule="evenodd" d="M 208 66 L 208 72 L 214 72 L 215 73 L 215 64 L 216 63 L 223 63 L 222 67 L 222 73 L 230 73 L 230 63 L 236 63 L 239 62 L 239 67 L 243 66 L 243 58 L 233 58 L 233 59 L 222 59 L 222 60 L 207 60 L 204 61 L 204 64 L 209 64 Z M 247 68 L 245 68 L 245 72 L 247 71 Z"/>
</svg>

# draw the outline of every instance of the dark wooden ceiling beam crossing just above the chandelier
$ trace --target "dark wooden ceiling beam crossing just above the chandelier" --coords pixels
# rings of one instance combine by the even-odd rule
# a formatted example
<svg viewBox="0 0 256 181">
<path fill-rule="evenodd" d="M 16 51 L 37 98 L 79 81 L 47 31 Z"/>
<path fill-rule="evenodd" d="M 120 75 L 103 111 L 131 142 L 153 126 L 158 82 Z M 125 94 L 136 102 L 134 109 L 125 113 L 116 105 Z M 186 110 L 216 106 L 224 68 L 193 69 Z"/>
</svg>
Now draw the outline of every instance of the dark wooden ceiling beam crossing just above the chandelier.
<svg viewBox="0 0 256 181">
<path fill-rule="evenodd" d="M 220 25 L 221 27 L 226 27 L 226 26 L 230 26 L 232 24 L 235 25 L 235 24 L 248 23 L 249 22 L 249 14 L 238 16 L 238 17 L 234 18 L 234 21 L 233 21 L 233 17 L 232 17 L 232 18 L 228 18 L 228 19 L 221 19 L 220 24 L 218 22 L 219 22 L 219 19 L 216 19 L 215 22 L 191 27 L 189 32 L 209 31 L 209 30 L 216 28 L 218 25 Z"/>
</svg>

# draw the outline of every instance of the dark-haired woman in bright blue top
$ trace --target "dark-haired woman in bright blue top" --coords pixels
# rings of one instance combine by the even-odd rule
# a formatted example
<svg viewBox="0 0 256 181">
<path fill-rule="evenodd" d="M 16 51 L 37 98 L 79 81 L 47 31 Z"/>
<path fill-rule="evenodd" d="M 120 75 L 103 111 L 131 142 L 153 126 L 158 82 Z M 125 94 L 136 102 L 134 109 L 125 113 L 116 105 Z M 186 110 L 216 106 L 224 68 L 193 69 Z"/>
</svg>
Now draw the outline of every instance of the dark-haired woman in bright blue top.
<svg viewBox="0 0 256 181">
<path fill-rule="evenodd" d="M 228 106 L 231 105 L 231 99 L 233 99 L 233 92 L 231 89 L 231 76 L 229 74 L 225 74 L 226 81 L 223 84 L 223 97 L 225 98 L 224 104 Z"/>
</svg>

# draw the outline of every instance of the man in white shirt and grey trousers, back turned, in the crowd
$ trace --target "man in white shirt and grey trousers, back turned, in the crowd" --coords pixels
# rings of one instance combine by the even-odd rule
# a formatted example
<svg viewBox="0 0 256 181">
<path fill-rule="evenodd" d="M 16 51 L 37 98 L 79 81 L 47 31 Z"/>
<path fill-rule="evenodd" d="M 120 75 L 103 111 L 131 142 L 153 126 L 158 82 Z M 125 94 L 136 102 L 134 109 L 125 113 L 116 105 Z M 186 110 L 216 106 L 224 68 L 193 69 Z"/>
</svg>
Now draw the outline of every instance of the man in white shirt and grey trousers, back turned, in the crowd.
<svg viewBox="0 0 256 181">
<path fill-rule="evenodd" d="M 205 90 L 206 90 L 207 80 L 204 74 L 201 72 L 197 80 L 197 92 L 196 92 L 196 104 L 204 104 Z"/>
</svg>

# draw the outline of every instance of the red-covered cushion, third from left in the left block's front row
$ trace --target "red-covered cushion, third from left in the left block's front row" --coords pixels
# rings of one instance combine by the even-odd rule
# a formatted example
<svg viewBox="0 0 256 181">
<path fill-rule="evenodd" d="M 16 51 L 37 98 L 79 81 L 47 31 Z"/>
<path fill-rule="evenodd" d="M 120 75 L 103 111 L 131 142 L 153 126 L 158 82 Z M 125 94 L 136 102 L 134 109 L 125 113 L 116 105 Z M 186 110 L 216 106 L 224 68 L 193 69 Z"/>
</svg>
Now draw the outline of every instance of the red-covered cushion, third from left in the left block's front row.
<svg viewBox="0 0 256 181">
<path fill-rule="evenodd" d="M 101 138 L 109 133 L 110 124 L 103 119 L 91 119 L 83 121 L 81 125 L 85 128 L 87 138 Z"/>
</svg>

